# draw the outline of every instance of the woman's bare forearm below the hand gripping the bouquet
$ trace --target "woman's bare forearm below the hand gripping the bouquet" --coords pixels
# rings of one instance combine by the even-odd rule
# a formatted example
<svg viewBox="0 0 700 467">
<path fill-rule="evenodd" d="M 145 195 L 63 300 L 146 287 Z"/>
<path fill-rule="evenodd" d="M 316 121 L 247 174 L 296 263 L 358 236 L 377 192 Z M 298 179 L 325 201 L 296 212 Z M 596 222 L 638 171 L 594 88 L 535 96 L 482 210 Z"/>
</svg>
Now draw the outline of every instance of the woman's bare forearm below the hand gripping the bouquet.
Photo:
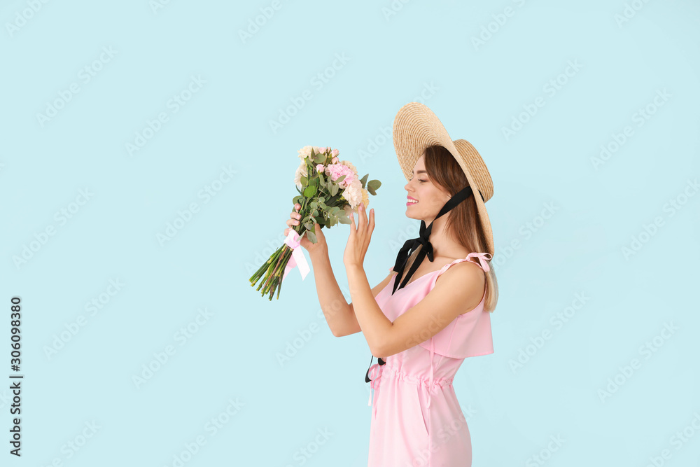
<svg viewBox="0 0 700 467">
<path fill-rule="evenodd" d="M 309 256 L 311 256 L 311 264 L 314 265 L 318 302 L 321 304 L 330 332 L 336 337 L 345 335 L 344 330 L 352 321 L 353 311 L 340 291 L 330 266 L 328 251 L 318 251 Z"/>
</svg>

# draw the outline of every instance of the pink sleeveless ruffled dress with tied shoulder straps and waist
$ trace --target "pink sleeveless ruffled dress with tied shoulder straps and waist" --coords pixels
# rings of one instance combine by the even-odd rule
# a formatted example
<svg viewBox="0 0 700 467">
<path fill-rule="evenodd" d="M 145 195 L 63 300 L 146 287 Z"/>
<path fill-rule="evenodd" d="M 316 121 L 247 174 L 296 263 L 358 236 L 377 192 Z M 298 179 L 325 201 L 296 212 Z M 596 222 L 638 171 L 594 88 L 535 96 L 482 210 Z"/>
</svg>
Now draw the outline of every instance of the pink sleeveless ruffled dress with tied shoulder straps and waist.
<svg viewBox="0 0 700 467">
<path fill-rule="evenodd" d="M 428 295 L 437 277 L 451 265 L 473 258 L 488 271 L 487 254 L 469 253 L 412 279 L 391 295 L 398 280 L 395 274 L 375 299 L 393 322 Z M 370 367 L 374 406 L 368 467 L 471 466 L 471 437 L 452 379 L 464 358 L 493 353 L 491 314 L 484 311 L 485 299 L 484 288 L 475 309 L 457 316 L 425 342 L 388 356 L 384 365 Z"/>
</svg>

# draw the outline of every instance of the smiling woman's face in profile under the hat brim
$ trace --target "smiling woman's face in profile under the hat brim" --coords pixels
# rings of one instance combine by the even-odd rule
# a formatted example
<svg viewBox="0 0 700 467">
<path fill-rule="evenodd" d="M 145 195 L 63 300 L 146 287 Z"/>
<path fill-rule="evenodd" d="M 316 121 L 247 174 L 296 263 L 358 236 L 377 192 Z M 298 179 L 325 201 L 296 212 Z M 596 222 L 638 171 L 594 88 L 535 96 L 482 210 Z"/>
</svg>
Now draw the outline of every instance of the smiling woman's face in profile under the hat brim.
<svg viewBox="0 0 700 467">
<path fill-rule="evenodd" d="M 422 219 L 429 224 L 440 213 L 440 209 L 449 200 L 449 194 L 433 184 L 426 172 L 425 156 L 416 161 L 413 167 L 413 178 L 406 183 L 407 197 L 406 216 L 412 219 Z M 412 200 L 418 202 L 412 202 Z"/>
</svg>

